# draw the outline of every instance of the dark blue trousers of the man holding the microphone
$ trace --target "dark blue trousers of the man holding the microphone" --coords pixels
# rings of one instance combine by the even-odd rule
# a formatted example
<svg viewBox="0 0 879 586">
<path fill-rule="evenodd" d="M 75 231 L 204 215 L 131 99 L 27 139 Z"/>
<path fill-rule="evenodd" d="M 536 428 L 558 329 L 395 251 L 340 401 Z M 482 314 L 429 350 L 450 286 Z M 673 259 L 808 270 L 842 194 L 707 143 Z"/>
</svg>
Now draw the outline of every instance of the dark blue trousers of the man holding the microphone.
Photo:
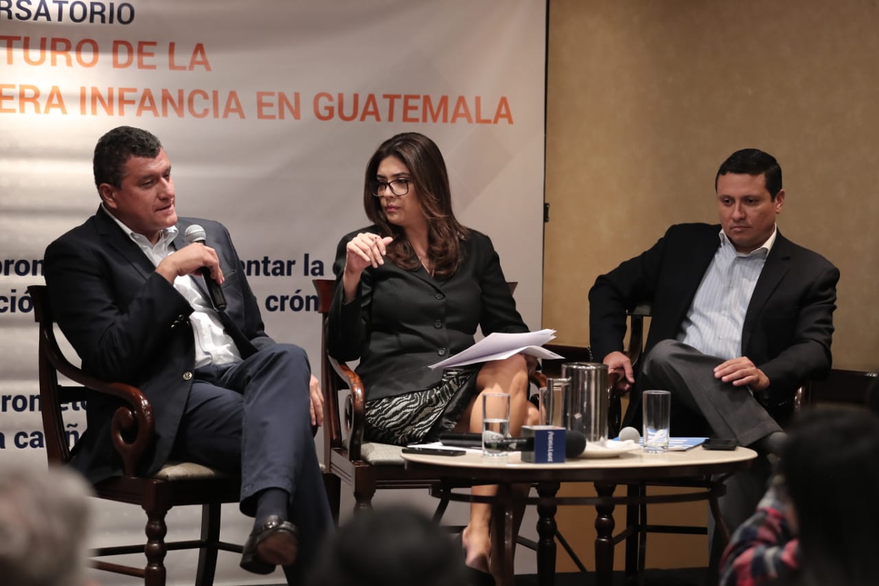
<svg viewBox="0 0 879 586">
<path fill-rule="evenodd" d="M 287 582 L 302 583 L 333 521 L 309 414 L 310 367 L 292 344 L 243 362 L 196 370 L 171 458 L 241 474 L 241 511 L 254 516 L 265 488 L 290 494 L 299 553 Z"/>
</svg>

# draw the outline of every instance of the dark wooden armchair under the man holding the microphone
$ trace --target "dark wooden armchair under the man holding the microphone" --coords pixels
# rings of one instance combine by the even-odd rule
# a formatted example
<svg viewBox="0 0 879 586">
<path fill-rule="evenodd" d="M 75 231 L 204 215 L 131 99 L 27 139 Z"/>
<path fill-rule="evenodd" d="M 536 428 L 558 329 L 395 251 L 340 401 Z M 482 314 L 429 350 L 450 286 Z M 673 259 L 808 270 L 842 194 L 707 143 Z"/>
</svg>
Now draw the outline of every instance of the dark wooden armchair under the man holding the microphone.
<svg viewBox="0 0 879 586">
<path fill-rule="evenodd" d="M 36 321 L 40 326 L 40 403 L 46 452 L 50 465 L 64 465 L 70 460 L 62 406 L 86 399 L 86 391 L 101 392 L 120 399 L 113 415 L 113 447 L 125 466 L 119 478 L 103 480 L 93 486 L 98 498 L 140 505 L 147 514 L 144 531 L 146 543 L 132 546 L 100 547 L 95 557 L 143 553 L 144 567 L 123 566 L 104 560 L 91 560 L 94 568 L 143 578 L 146 586 L 163 586 L 163 560 L 169 550 L 198 549 L 199 562 L 194 584 L 209 586 L 214 582 L 217 552 L 241 553 L 242 546 L 220 541 L 220 509 L 224 502 L 238 502 L 241 480 L 206 466 L 187 462 L 169 463 L 151 477 L 139 475 L 140 459 L 153 443 L 153 410 L 149 400 L 137 388 L 108 383 L 91 377 L 69 363 L 58 347 L 54 319 L 44 285 L 27 288 L 33 298 Z M 58 375 L 80 386 L 60 385 Z M 171 507 L 201 505 L 201 535 L 189 541 L 166 542 L 165 515 Z"/>
</svg>

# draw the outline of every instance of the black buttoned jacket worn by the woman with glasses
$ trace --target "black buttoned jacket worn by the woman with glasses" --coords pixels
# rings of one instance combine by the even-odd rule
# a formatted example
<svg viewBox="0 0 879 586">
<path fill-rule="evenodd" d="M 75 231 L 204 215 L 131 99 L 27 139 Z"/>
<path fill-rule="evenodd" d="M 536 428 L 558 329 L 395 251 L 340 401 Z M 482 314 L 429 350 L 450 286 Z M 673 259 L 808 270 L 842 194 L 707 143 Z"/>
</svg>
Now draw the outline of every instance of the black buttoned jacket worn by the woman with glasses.
<svg viewBox="0 0 879 586">
<path fill-rule="evenodd" d="M 368 399 L 439 383 L 442 370 L 427 365 L 469 348 L 477 326 L 485 335 L 528 331 L 490 238 L 474 230 L 461 242 L 464 260 L 451 277 L 433 279 L 424 268 L 407 271 L 385 260 L 363 271 L 358 297 L 343 304 L 345 245 L 363 231 L 378 233 L 370 226 L 338 243 L 327 350 L 339 360 L 360 358 L 357 372 Z"/>
</svg>

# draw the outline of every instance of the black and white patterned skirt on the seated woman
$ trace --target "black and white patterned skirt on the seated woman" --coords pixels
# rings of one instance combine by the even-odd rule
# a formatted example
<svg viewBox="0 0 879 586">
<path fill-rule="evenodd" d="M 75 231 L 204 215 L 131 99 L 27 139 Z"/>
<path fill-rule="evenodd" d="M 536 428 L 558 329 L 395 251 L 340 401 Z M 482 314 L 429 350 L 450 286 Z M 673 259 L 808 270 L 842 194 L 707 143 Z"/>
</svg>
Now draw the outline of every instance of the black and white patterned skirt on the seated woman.
<svg viewBox="0 0 879 586">
<path fill-rule="evenodd" d="M 448 369 L 439 383 L 424 391 L 367 401 L 365 439 L 372 442 L 435 442 L 451 431 L 476 397 L 479 366 Z"/>
</svg>

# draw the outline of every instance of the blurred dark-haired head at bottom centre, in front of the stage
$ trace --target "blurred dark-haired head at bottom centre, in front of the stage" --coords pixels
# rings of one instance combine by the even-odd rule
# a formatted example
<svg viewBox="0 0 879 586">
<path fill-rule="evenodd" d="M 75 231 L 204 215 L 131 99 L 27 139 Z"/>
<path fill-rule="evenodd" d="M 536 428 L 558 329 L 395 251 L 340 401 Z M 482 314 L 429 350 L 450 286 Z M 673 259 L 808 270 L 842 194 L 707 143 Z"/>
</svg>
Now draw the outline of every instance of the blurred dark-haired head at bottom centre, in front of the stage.
<svg viewBox="0 0 879 586">
<path fill-rule="evenodd" d="M 340 527 L 312 578 L 312 586 L 457 586 L 469 573 L 447 531 L 395 506 L 359 513 Z"/>
</svg>

